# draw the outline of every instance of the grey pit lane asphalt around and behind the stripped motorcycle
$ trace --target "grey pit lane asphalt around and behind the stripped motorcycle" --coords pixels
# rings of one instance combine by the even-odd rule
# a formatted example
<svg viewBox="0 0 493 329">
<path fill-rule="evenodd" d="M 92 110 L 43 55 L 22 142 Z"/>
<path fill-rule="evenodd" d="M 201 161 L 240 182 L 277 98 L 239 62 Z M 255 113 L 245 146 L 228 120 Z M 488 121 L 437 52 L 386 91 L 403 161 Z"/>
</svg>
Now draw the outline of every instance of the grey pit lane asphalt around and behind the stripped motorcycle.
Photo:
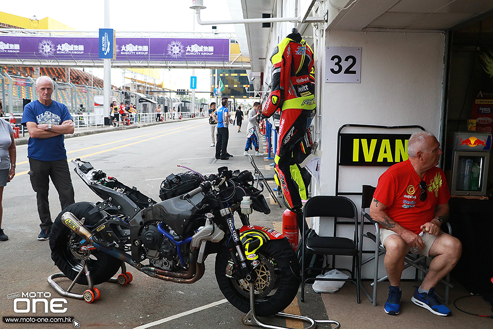
<svg viewBox="0 0 493 329">
<path fill-rule="evenodd" d="M 243 129 L 245 129 L 244 122 Z M 161 181 L 171 173 L 186 171 L 177 165 L 192 168 L 201 173 L 216 172 L 218 167 L 230 169 L 251 169 L 248 158 L 242 156 L 246 134 L 236 133 L 230 127 L 228 151 L 234 157 L 229 160 L 216 160 L 214 148 L 210 147 L 210 130 L 206 119 L 180 121 L 166 124 L 151 124 L 140 129 L 120 127 L 120 129 L 99 128 L 87 130 L 85 136 L 66 138 L 68 158 L 81 157 L 90 161 L 96 169 L 109 176 L 115 176 L 128 186 L 137 187 L 142 193 L 158 200 Z M 103 132 L 104 131 L 104 132 Z M 98 134 L 91 134 L 100 132 Z M 79 132 L 79 133 L 82 133 Z M 214 275 L 215 255 L 205 262 L 204 277 L 194 284 L 165 282 L 143 275 L 134 268 L 127 270 L 134 281 L 126 286 L 116 283 L 103 283 L 101 299 L 88 304 L 82 300 L 65 298 L 67 311 L 63 314 L 44 314 L 38 310 L 16 314 L 13 311 L 13 299 L 7 295 L 14 293 L 42 292 L 50 293 L 51 299 L 62 298 L 47 283 L 46 278 L 59 272 L 50 258 L 48 241 L 37 241 L 39 217 L 36 211 L 35 193 L 32 191 L 27 162 L 27 138 L 17 143 L 17 176 L 4 189 L 4 216 L 2 227 L 9 235 L 9 241 L 0 242 L 0 314 L 5 316 L 71 316 L 81 323 L 81 328 L 244 328 L 241 318 L 244 315 L 228 302 L 222 302 L 221 294 Z M 265 149 L 263 149 L 265 150 Z M 257 157 L 256 162 L 264 173 L 269 174 L 269 163 Z M 73 165 L 69 164 L 70 168 Z M 99 199 L 72 172 L 75 190 L 75 202 L 97 202 Z M 60 212 L 60 203 L 53 186 L 50 186 L 50 205 L 52 218 Z M 266 193 L 266 196 L 267 193 Z M 269 200 L 269 199 L 268 199 Z M 282 211 L 271 205 L 271 214 L 254 213 L 251 223 L 274 227 L 281 230 Z M 69 281 L 56 280 L 67 288 Z M 306 302 L 298 298 L 290 307 L 290 313 L 300 313 L 317 319 L 327 319 L 327 310 L 320 295 L 307 287 Z M 72 292 L 82 293 L 84 286 L 75 285 Z M 213 303 L 219 304 L 213 306 Z M 21 308 L 25 308 L 25 304 Z M 200 308 L 200 309 L 198 309 Z M 299 311 L 298 311 L 299 308 Z M 286 325 L 283 319 L 270 317 L 269 324 Z M 163 322 L 164 321 L 164 322 Z M 292 327 L 301 327 L 300 323 L 291 323 Z M 72 324 L 6 324 L 2 328 L 71 328 Z"/>
</svg>

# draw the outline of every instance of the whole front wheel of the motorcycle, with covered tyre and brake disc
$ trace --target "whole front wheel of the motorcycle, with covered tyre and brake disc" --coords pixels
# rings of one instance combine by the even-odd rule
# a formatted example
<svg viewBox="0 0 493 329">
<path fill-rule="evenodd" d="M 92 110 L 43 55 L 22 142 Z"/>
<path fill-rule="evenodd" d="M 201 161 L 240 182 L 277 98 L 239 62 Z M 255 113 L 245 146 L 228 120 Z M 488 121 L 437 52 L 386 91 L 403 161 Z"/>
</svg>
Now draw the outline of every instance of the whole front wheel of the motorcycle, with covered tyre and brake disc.
<svg viewBox="0 0 493 329">
<path fill-rule="evenodd" d="M 282 312 L 296 297 L 299 269 L 296 254 L 287 239 L 270 240 L 257 252 L 260 264 L 255 267 L 255 314 L 271 316 Z M 243 313 L 250 310 L 250 286 L 246 280 L 226 277 L 231 254 L 223 247 L 216 255 L 216 280 L 226 299 Z M 287 261 L 294 260 L 290 266 Z M 281 264 L 284 264 L 280 266 Z"/>
</svg>

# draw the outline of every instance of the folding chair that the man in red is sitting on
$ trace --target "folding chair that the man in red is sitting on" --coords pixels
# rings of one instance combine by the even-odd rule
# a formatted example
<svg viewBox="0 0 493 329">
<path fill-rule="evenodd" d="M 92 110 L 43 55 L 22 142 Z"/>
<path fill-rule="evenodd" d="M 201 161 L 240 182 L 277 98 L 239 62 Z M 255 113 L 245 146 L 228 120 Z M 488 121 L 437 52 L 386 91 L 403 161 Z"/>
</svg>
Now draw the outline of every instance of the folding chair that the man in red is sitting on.
<svg viewBox="0 0 493 329">
<path fill-rule="evenodd" d="M 370 295 L 368 291 L 366 290 L 365 287 L 363 287 L 363 293 L 368 297 L 370 302 L 372 302 L 373 306 L 376 306 L 376 287 L 377 284 L 385 281 L 388 279 L 387 276 L 384 276 L 382 278 L 378 278 L 378 261 L 380 259 L 380 256 L 385 254 L 385 247 L 383 244 L 380 242 L 380 226 L 378 226 L 378 223 L 374 221 L 371 216 L 368 214 L 366 209 L 370 208 L 371 201 L 373 199 L 373 193 L 375 192 L 375 188 L 373 186 L 369 185 L 363 185 L 363 193 L 362 193 L 362 199 L 361 199 L 361 224 L 359 225 L 360 227 L 360 237 L 359 237 L 359 260 L 360 260 L 360 266 L 359 266 L 359 271 L 362 271 L 362 266 L 365 264 L 368 264 L 373 261 L 373 282 L 370 284 L 373 287 L 373 293 Z M 366 222 L 365 222 L 366 221 Z M 366 232 L 364 233 L 364 228 L 366 226 L 371 225 L 374 230 L 373 232 Z M 447 222 L 445 223 L 445 226 L 442 228 L 442 230 L 448 234 L 452 234 L 452 228 L 450 227 L 450 224 Z M 370 239 L 371 241 L 374 242 L 374 249 L 368 251 L 368 253 L 372 254 L 371 257 L 368 259 L 363 260 L 363 253 L 366 253 L 363 250 L 363 242 L 364 239 Z M 409 267 L 414 267 L 416 269 L 416 274 L 418 272 L 421 272 L 421 274 L 426 275 L 428 273 L 428 265 L 427 265 L 427 257 L 426 256 L 419 256 L 419 255 L 414 255 L 412 253 L 408 253 L 404 257 L 404 269 L 409 268 Z M 418 279 L 418 276 L 416 275 L 415 277 Z M 448 293 L 449 293 L 449 288 L 452 288 L 453 286 L 449 283 L 450 281 L 450 273 L 442 280 L 440 280 L 441 283 L 444 284 L 445 286 L 445 292 L 444 296 L 440 296 L 439 294 L 436 293 L 437 297 L 439 297 L 440 300 L 444 302 L 444 304 L 448 304 Z"/>
</svg>

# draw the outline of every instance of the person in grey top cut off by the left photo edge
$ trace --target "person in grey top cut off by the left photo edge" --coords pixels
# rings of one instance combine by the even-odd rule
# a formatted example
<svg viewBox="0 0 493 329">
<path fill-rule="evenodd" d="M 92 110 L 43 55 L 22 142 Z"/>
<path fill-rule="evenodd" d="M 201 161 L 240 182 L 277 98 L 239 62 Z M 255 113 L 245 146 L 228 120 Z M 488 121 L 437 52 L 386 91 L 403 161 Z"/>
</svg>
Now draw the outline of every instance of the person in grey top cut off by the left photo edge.
<svg viewBox="0 0 493 329">
<path fill-rule="evenodd" d="M 3 112 L 2 100 L 0 100 L 0 112 Z M 2 229 L 2 215 L 4 212 L 2 197 L 7 182 L 14 178 L 15 160 L 16 150 L 12 126 L 8 121 L 0 119 L 0 241 L 9 240 L 9 237 Z"/>
</svg>

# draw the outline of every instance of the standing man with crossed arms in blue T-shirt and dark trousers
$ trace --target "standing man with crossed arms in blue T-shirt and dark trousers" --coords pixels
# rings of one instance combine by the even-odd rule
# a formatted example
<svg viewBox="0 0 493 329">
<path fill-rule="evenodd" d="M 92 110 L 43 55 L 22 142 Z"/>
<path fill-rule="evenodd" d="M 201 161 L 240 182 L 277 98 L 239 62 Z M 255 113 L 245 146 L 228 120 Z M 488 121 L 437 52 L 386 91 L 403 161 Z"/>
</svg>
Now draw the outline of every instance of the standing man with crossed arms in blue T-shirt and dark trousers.
<svg viewBox="0 0 493 329">
<path fill-rule="evenodd" d="M 53 224 L 48 202 L 49 178 L 58 191 L 62 210 L 74 203 L 64 144 L 64 135 L 73 134 L 73 120 L 67 106 L 51 100 L 53 80 L 47 76 L 37 78 L 36 92 L 39 98 L 24 107 L 22 124 L 29 132 L 29 175 L 41 220 L 37 240 L 48 240 Z"/>
</svg>

